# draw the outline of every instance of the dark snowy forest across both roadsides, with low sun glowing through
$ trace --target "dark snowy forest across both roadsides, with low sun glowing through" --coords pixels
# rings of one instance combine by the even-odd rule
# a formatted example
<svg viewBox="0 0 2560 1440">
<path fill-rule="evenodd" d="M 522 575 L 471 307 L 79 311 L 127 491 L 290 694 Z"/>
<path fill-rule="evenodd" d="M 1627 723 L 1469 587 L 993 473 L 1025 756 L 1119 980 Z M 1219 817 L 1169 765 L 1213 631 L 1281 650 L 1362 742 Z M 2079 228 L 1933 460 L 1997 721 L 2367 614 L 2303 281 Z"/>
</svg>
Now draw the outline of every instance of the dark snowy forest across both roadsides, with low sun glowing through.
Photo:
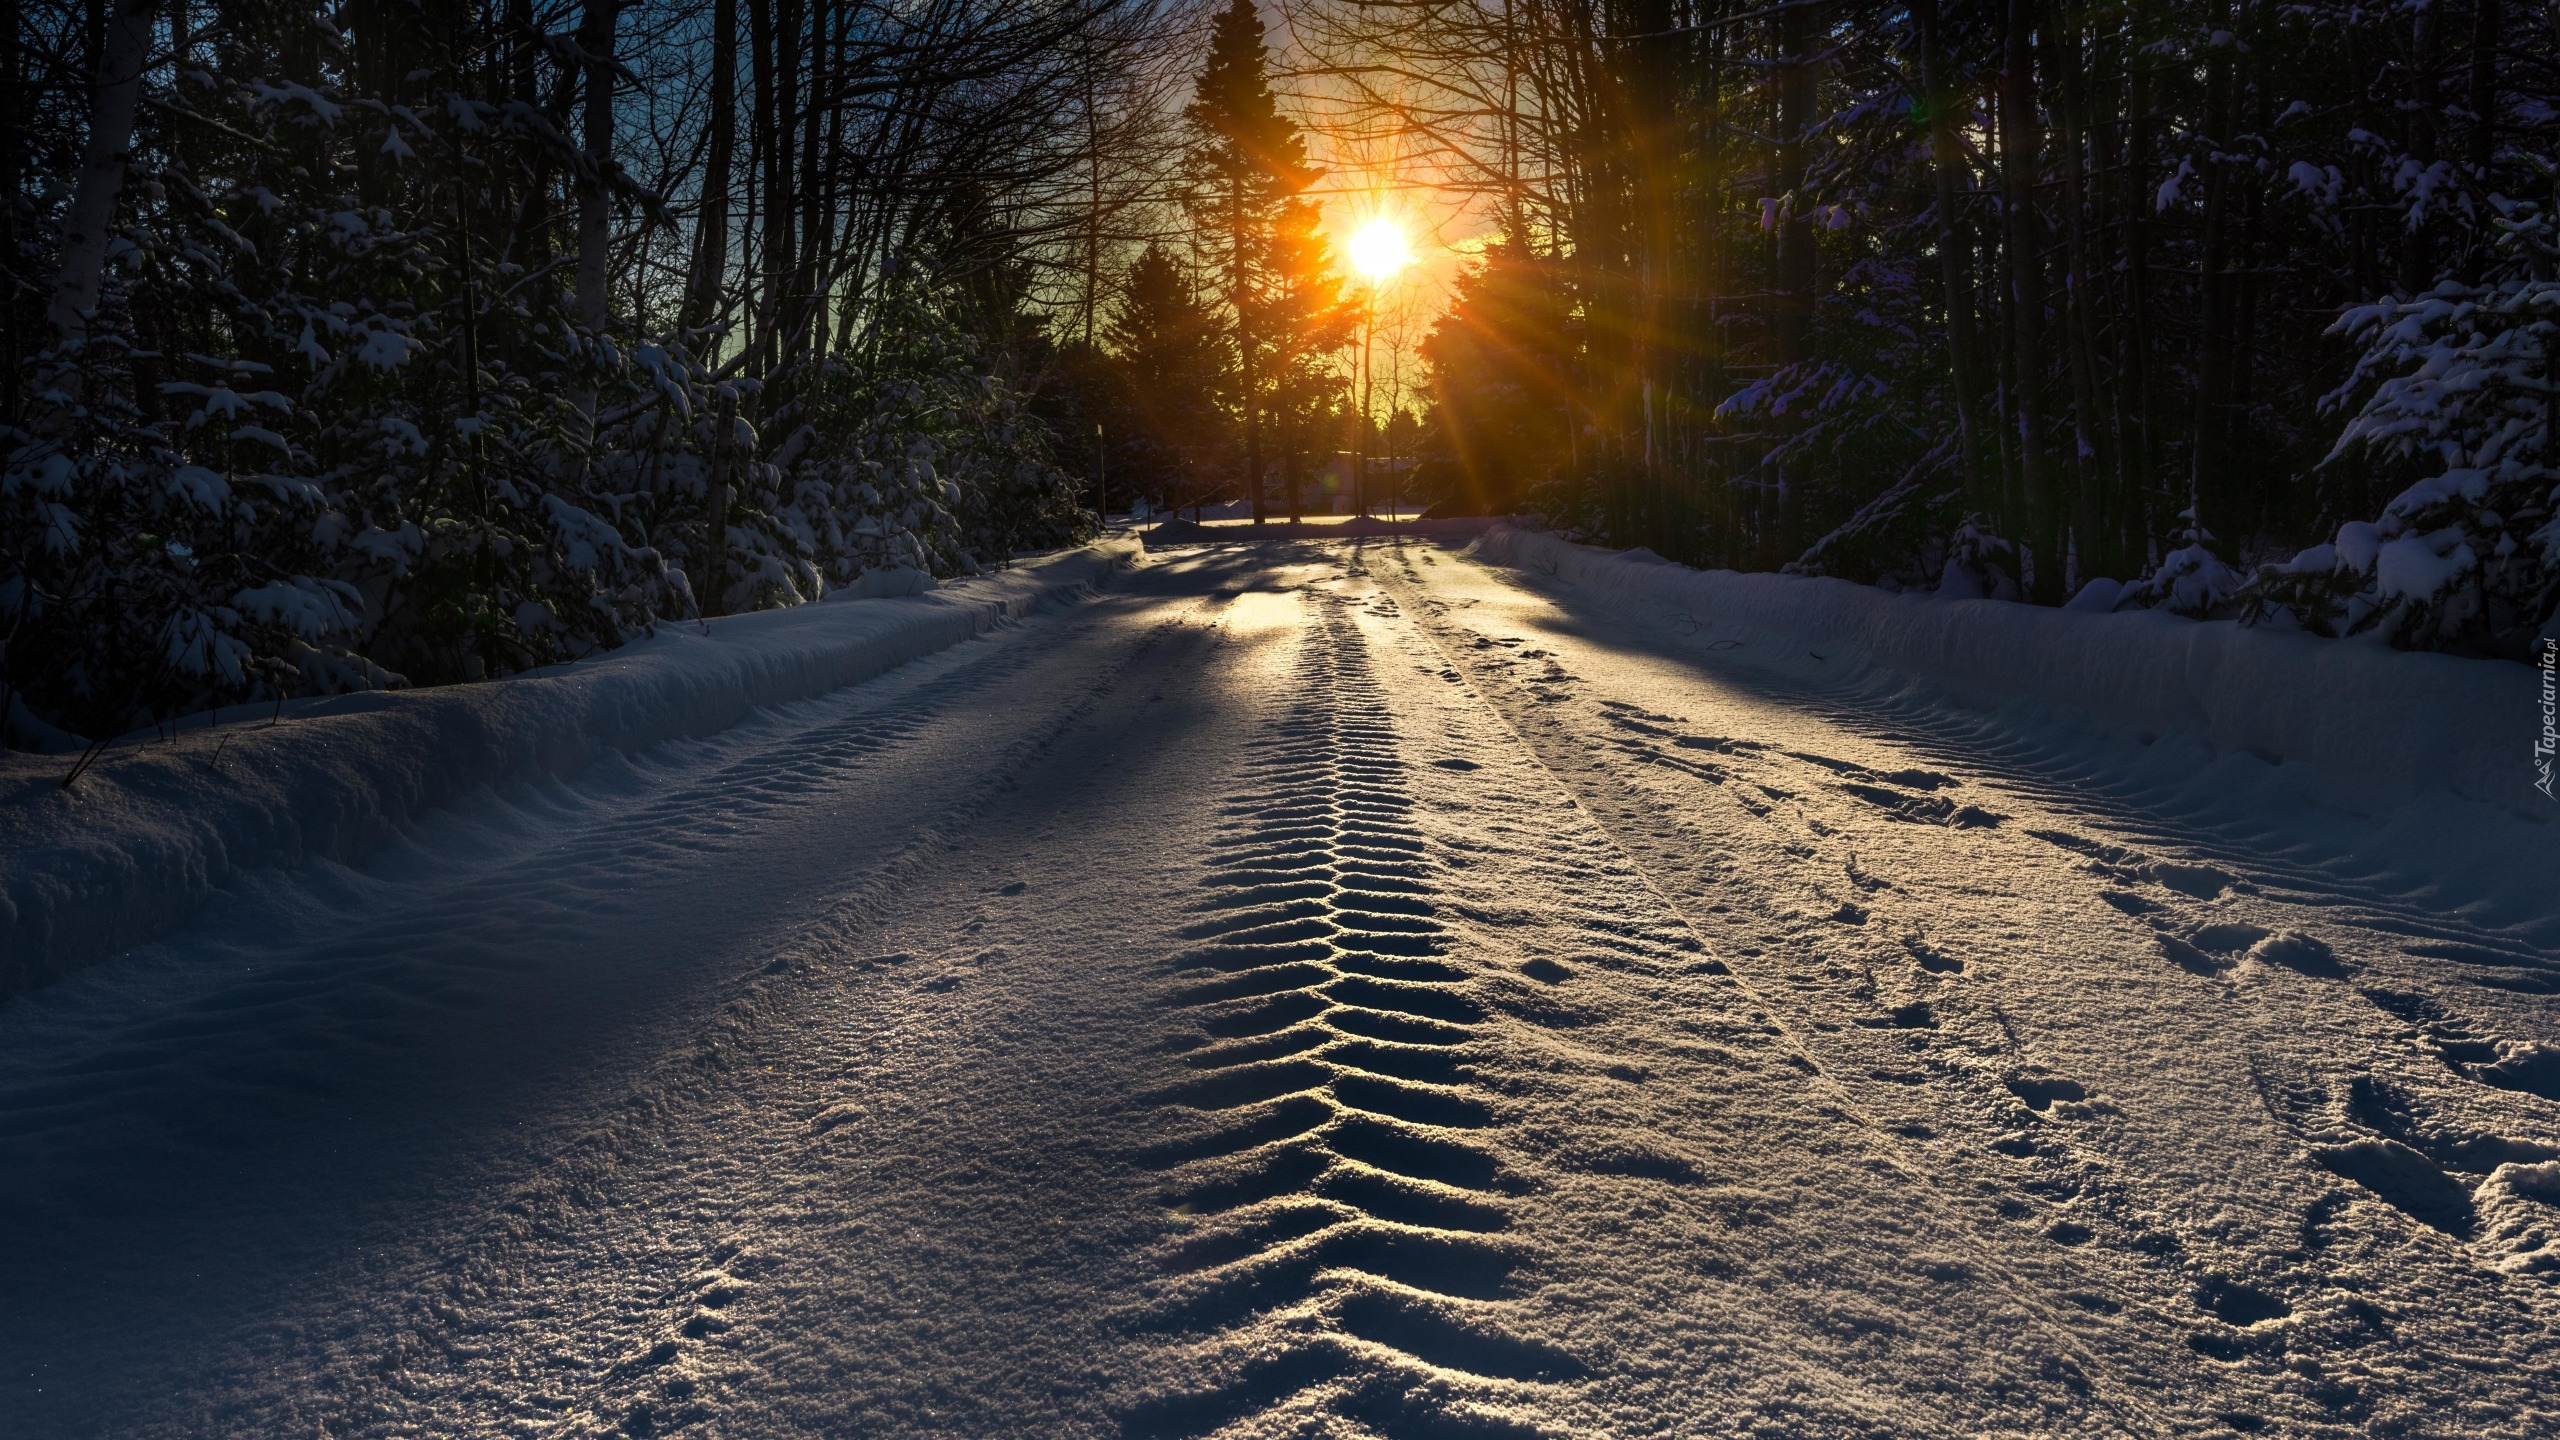
<svg viewBox="0 0 2560 1440">
<path fill-rule="evenodd" d="M 0 712 L 84 748 L 1295 515 L 2524 659 L 2560 10 L 5 0 Z M 1349 231 L 1454 251 L 1395 295 Z M 1418 266 L 1421 269 L 1421 266 Z M 1380 379 L 1385 374 L 1385 379 Z"/>
</svg>

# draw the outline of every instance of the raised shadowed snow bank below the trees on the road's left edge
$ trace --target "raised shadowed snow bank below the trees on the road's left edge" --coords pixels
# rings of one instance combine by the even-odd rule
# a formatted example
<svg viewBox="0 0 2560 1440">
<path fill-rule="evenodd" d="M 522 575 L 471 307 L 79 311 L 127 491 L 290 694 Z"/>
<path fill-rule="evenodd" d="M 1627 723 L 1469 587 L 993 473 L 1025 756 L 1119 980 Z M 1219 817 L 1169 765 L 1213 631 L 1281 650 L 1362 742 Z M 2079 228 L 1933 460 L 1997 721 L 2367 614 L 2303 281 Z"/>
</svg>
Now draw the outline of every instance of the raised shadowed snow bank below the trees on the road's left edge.
<svg viewBox="0 0 2560 1440">
<path fill-rule="evenodd" d="M 1106 584 L 1137 551 L 1106 541 L 932 592 L 671 625 L 492 684 L 305 702 L 282 725 L 110 751 L 72 792 L 61 756 L 8 756 L 0 999 L 177 928 L 241 871 L 358 861 L 484 784 L 576 774 L 870 679 Z"/>
</svg>

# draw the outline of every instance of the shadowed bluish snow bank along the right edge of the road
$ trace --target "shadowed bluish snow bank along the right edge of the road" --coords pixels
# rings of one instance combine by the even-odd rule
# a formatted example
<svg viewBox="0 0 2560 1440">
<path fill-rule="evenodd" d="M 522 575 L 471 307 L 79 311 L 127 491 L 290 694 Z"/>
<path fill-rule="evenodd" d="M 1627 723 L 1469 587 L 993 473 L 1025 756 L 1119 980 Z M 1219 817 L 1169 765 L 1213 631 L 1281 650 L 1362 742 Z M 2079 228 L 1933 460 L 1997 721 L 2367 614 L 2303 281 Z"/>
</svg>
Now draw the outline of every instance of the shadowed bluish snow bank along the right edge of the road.
<svg viewBox="0 0 2560 1440">
<path fill-rule="evenodd" d="M 2519 664 L 2150 610 L 2097 615 L 1887 594 L 1846 579 L 1695 571 L 1510 525 L 1485 533 L 1477 553 L 1623 610 L 1684 612 L 1725 635 L 1784 635 L 1830 664 L 1864 659 L 1969 702 L 2028 697 L 2156 733 L 2194 728 L 2225 753 L 2312 766 L 2322 789 L 2355 810 L 2452 789 L 2527 817 L 2552 815 L 2532 764 L 2540 676 Z"/>
</svg>

